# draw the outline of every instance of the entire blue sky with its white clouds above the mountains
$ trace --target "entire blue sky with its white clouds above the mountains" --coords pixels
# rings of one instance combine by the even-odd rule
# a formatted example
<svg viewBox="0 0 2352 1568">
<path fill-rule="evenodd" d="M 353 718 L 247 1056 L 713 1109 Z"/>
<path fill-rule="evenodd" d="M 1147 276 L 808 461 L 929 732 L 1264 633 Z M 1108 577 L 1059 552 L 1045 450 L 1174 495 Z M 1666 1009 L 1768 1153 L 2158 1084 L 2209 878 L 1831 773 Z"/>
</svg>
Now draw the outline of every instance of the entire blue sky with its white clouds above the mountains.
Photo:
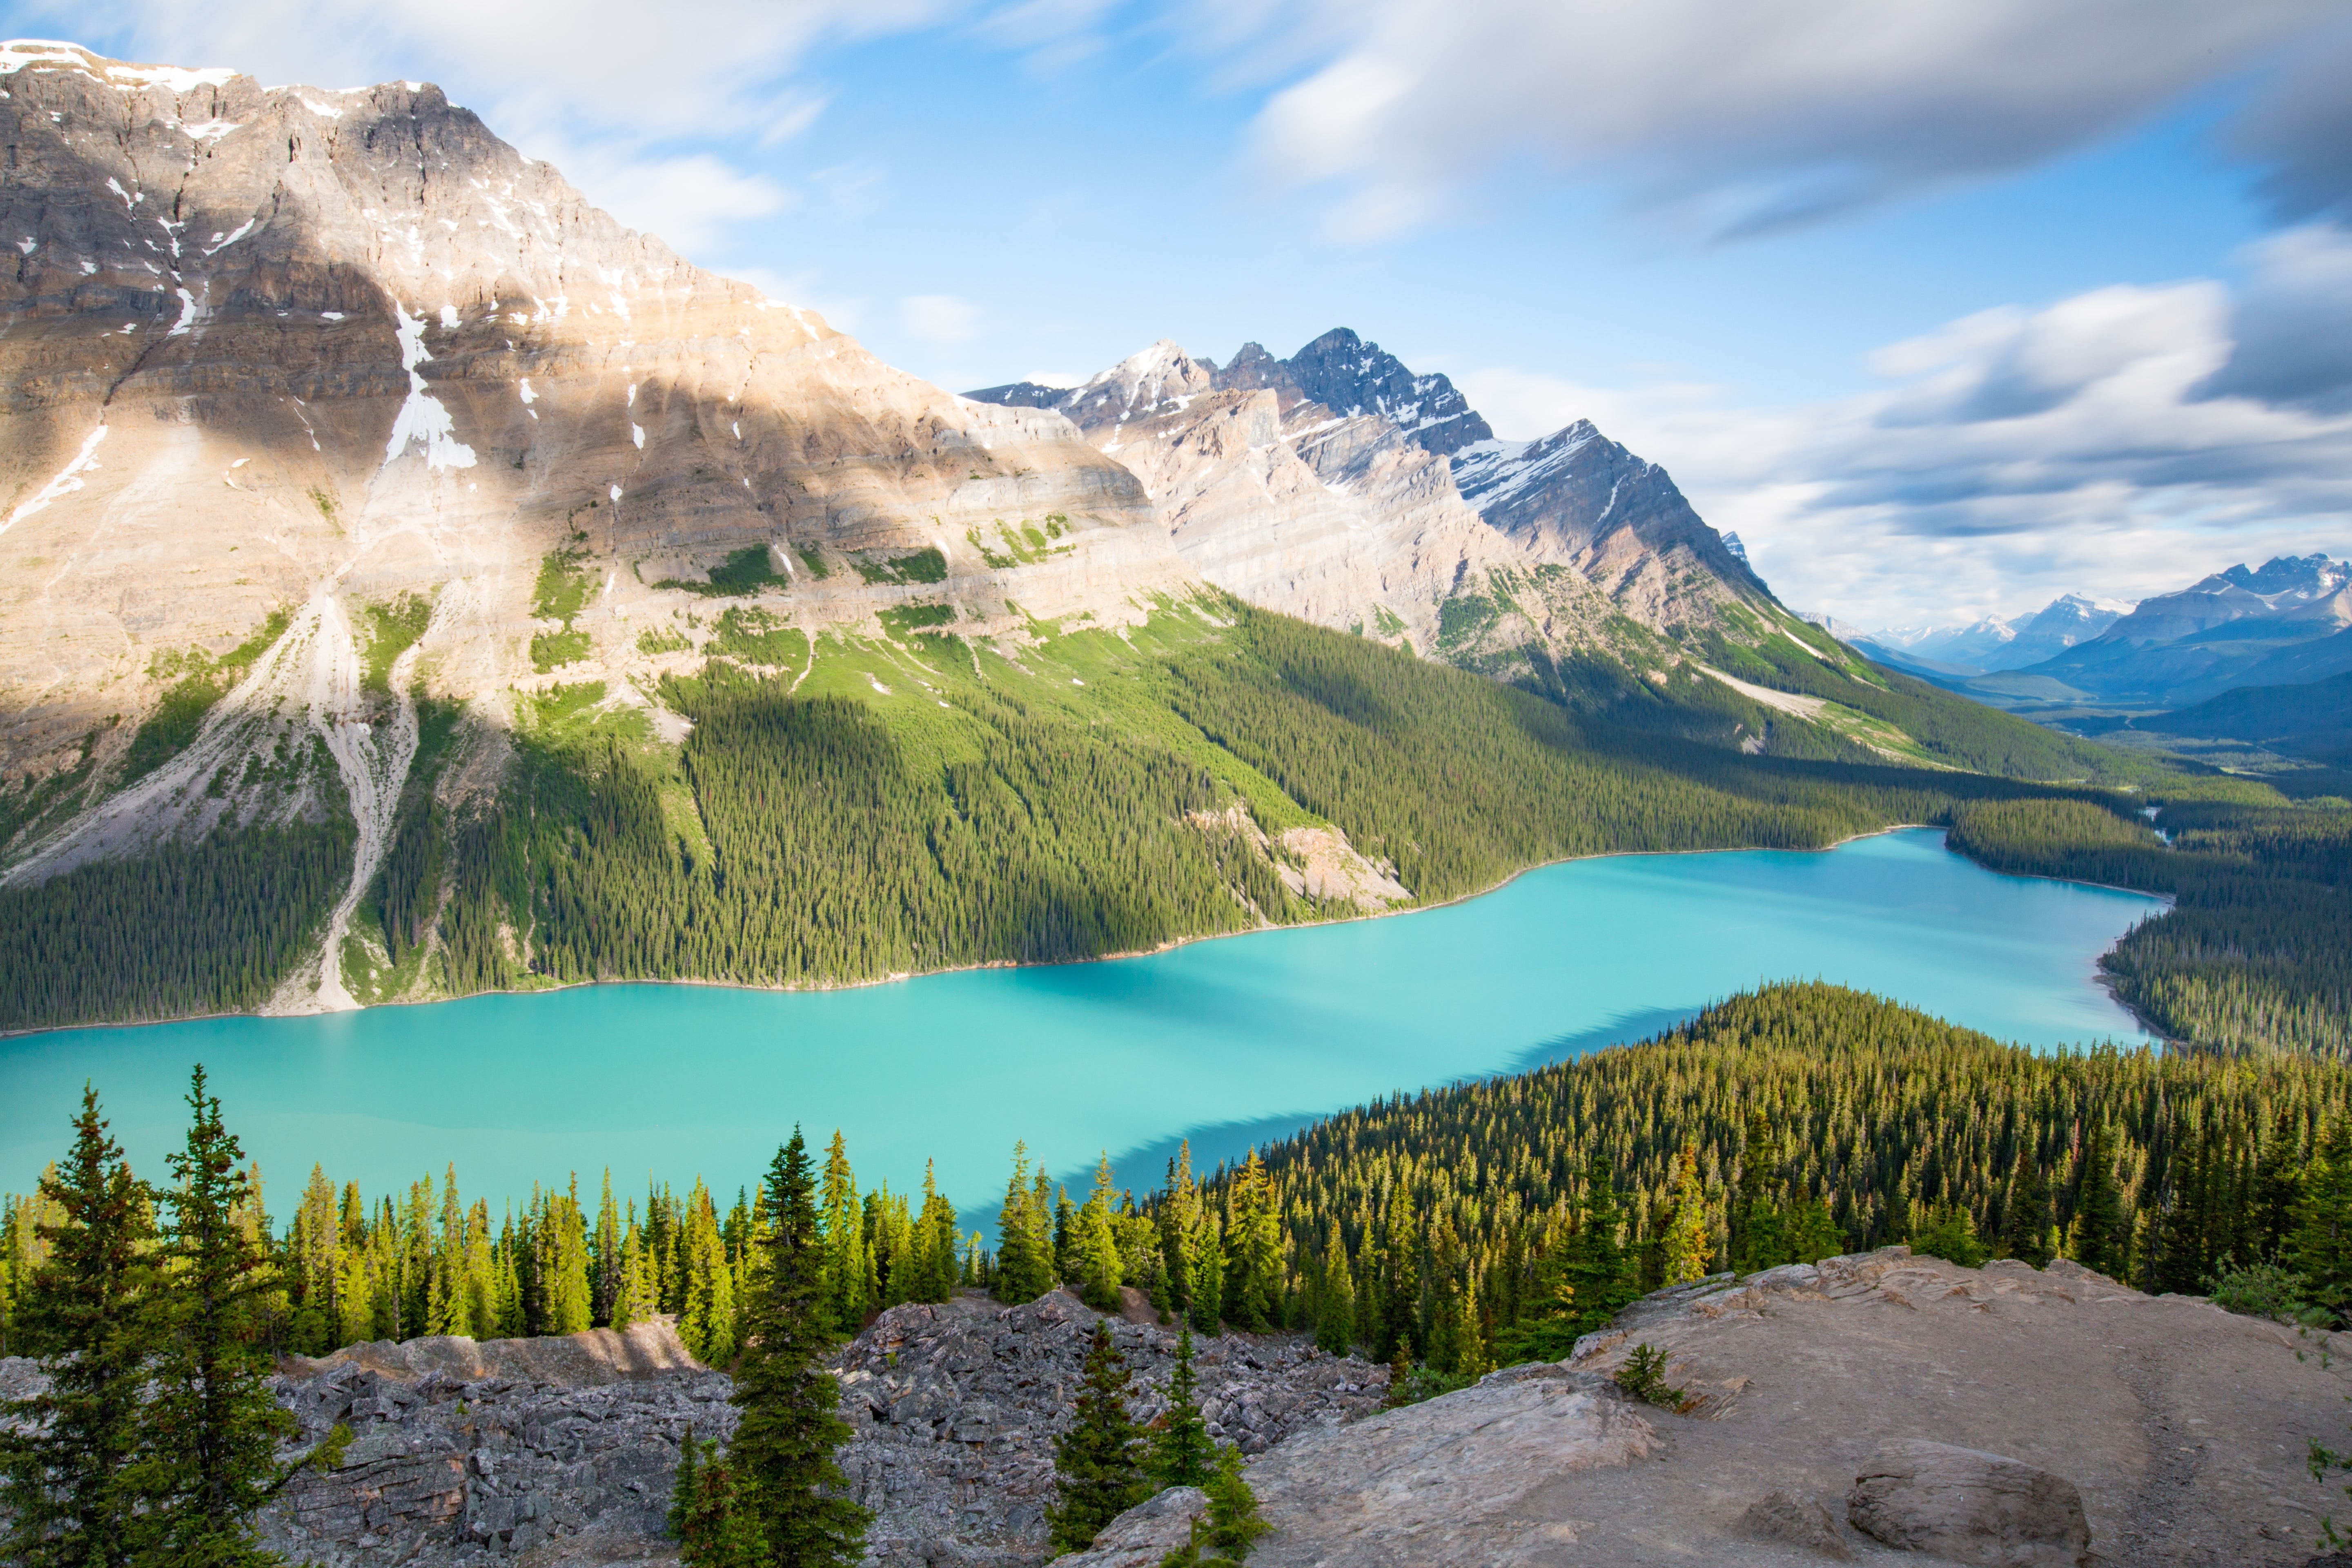
<svg viewBox="0 0 2352 1568">
<path fill-rule="evenodd" d="M 950 388 L 1355 327 L 1595 418 L 1802 609 L 2352 550 L 2352 26 L 2241 0 L 0 5 L 440 82 Z"/>
</svg>

